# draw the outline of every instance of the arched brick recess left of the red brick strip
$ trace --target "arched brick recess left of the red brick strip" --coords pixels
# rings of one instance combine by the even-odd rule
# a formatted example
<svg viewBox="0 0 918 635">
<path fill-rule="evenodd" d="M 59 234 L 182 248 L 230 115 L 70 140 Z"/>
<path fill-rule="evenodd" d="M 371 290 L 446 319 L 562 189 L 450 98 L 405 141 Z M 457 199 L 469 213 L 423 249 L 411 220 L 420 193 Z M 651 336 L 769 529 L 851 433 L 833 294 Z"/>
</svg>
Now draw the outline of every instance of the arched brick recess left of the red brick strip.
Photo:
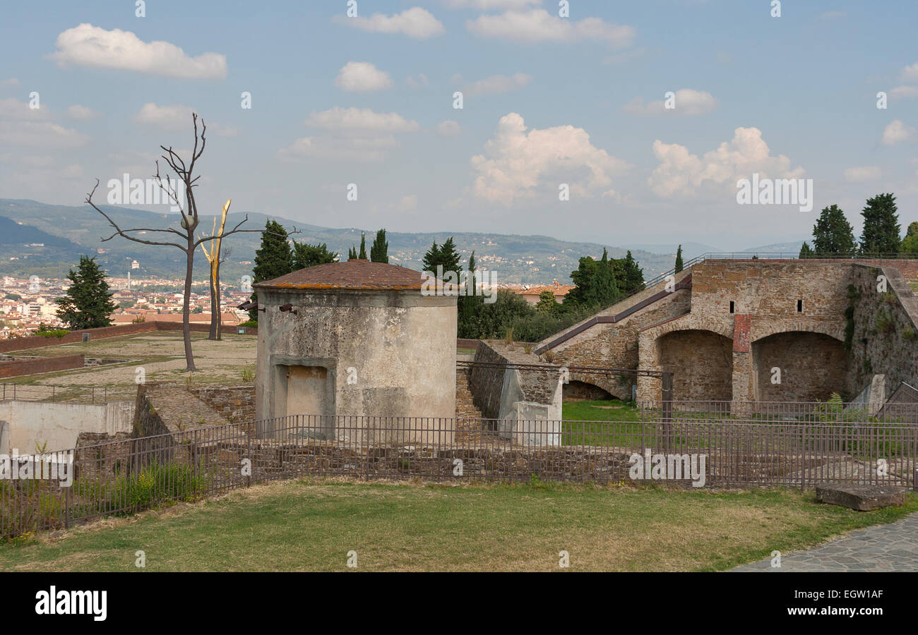
<svg viewBox="0 0 918 635">
<path fill-rule="evenodd" d="M 671 329 L 655 340 L 657 366 L 673 373 L 673 399 L 730 401 L 733 340 L 711 329 Z"/>
</svg>

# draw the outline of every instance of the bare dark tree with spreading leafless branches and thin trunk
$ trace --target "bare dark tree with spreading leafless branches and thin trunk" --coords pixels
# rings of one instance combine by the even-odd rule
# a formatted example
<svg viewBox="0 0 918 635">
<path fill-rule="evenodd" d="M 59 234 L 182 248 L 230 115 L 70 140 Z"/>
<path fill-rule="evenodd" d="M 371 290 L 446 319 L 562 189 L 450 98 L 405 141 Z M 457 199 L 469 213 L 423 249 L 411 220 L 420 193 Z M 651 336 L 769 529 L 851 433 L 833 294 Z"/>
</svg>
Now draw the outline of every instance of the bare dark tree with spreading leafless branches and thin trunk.
<svg viewBox="0 0 918 635">
<path fill-rule="evenodd" d="M 199 223 L 199 218 L 197 214 L 197 203 L 195 200 L 195 188 L 197 186 L 197 180 L 201 178 L 200 176 L 195 176 L 195 165 L 198 159 L 201 158 L 201 155 L 204 154 L 204 148 L 207 145 L 207 139 L 205 139 L 205 133 L 207 132 L 207 125 L 204 123 L 204 119 L 201 119 L 201 132 L 198 134 L 197 131 L 197 113 L 192 113 L 192 124 L 195 128 L 195 145 L 191 150 L 191 159 L 186 163 L 172 146 L 166 148 L 165 146 L 160 146 L 164 154 L 162 154 L 162 160 L 172 169 L 178 179 L 184 185 L 185 190 L 185 201 L 179 200 L 179 192 L 176 188 L 169 184 L 168 178 L 163 182 L 162 176 L 160 174 L 160 162 L 156 162 L 156 174 L 153 176 L 156 179 L 157 184 L 159 184 L 161 191 L 168 197 L 170 205 L 178 207 L 179 213 L 182 218 L 179 222 L 181 230 L 176 228 L 130 228 L 122 229 L 118 227 L 118 223 L 106 214 L 102 209 L 93 203 L 93 195 L 95 195 L 95 190 L 99 186 L 99 180 L 95 180 L 95 186 L 93 191 L 86 195 L 86 204 L 92 206 L 95 211 L 97 211 L 102 216 L 106 217 L 108 224 L 114 228 L 115 233 L 113 233 L 108 238 L 102 239 L 103 242 L 107 240 L 112 240 L 116 236 L 120 236 L 123 239 L 132 240 L 133 242 L 140 242 L 144 245 L 157 245 L 164 247 L 175 247 L 185 251 L 185 299 L 182 305 L 182 335 L 185 339 L 185 371 L 193 372 L 195 368 L 195 357 L 191 351 L 191 325 L 189 323 L 190 305 L 191 305 L 191 283 L 192 276 L 194 274 L 195 268 L 195 251 L 197 250 L 198 245 L 201 245 L 210 240 L 220 240 L 230 236 L 232 234 L 239 234 L 243 232 L 261 232 L 262 229 L 241 229 L 243 223 L 245 223 L 249 216 L 246 215 L 236 226 L 229 231 L 224 231 L 221 235 L 218 236 L 205 236 L 195 240 L 195 229 Z M 137 236 L 131 236 L 129 232 L 162 232 L 165 234 L 173 234 L 177 237 L 178 242 L 169 242 L 167 240 L 146 240 L 137 238 Z M 294 228 L 293 231 L 289 233 L 299 233 L 297 228 Z"/>
</svg>

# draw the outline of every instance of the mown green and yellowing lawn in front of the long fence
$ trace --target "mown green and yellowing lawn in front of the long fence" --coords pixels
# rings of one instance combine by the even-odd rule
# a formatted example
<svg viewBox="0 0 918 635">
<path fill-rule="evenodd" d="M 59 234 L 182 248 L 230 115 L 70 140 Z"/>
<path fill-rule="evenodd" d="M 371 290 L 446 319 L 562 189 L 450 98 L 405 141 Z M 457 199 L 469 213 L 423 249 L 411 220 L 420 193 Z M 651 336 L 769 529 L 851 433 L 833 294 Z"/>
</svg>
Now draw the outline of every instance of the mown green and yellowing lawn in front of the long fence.
<svg viewBox="0 0 918 635">
<path fill-rule="evenodd" d="M 4 571 L 710 571 L 918 510 L 812 493 L 287 481 L 0 545 Z"/>
</svg>

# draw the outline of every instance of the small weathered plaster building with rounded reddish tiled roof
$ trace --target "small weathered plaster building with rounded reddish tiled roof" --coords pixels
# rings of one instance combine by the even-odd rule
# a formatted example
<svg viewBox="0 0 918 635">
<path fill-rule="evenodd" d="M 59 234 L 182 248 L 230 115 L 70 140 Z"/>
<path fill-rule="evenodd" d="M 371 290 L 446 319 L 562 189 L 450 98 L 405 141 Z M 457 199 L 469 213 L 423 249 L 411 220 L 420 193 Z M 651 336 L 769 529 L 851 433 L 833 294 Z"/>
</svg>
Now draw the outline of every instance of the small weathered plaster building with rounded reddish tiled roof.
<svg viewBox="0 0 918 635">
<path fill-rule="evenodd" d="M 421 282 L 420 272 L 405 267 L 351 260 L 254 284 L 257 418 L 453 418 L 456 296 L 422 295 Z M 322 418 L 328 429 L 321 436 L 341 436 L 331 429 L 336 422 Z M 389 439 L 405 424 L 370 425 L 373 432 L 358 436 Z M 452 421 L 425 426 L 452 435 Z"/>
</svg>

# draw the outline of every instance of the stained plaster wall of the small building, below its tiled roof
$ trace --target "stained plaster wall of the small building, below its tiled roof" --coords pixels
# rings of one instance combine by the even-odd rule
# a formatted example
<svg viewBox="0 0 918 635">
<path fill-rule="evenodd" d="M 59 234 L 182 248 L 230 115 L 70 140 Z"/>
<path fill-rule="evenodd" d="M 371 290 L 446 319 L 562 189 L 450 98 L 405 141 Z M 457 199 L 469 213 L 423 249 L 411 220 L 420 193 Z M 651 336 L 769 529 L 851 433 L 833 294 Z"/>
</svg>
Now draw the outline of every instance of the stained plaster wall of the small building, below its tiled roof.
<svg viewBox="0 0 918 635">
<path fill-rule="evenodd" d="M 453 418 L 456 300 L 411 291 L 260 289 L 256 411 Z M 297 311 L 282 312 L 291 304 Z M 282 367 L 321 367 L 326 412 L 287 413 Z M 349 381 L 350 380 L 350 381 Z"/>
</svg>

